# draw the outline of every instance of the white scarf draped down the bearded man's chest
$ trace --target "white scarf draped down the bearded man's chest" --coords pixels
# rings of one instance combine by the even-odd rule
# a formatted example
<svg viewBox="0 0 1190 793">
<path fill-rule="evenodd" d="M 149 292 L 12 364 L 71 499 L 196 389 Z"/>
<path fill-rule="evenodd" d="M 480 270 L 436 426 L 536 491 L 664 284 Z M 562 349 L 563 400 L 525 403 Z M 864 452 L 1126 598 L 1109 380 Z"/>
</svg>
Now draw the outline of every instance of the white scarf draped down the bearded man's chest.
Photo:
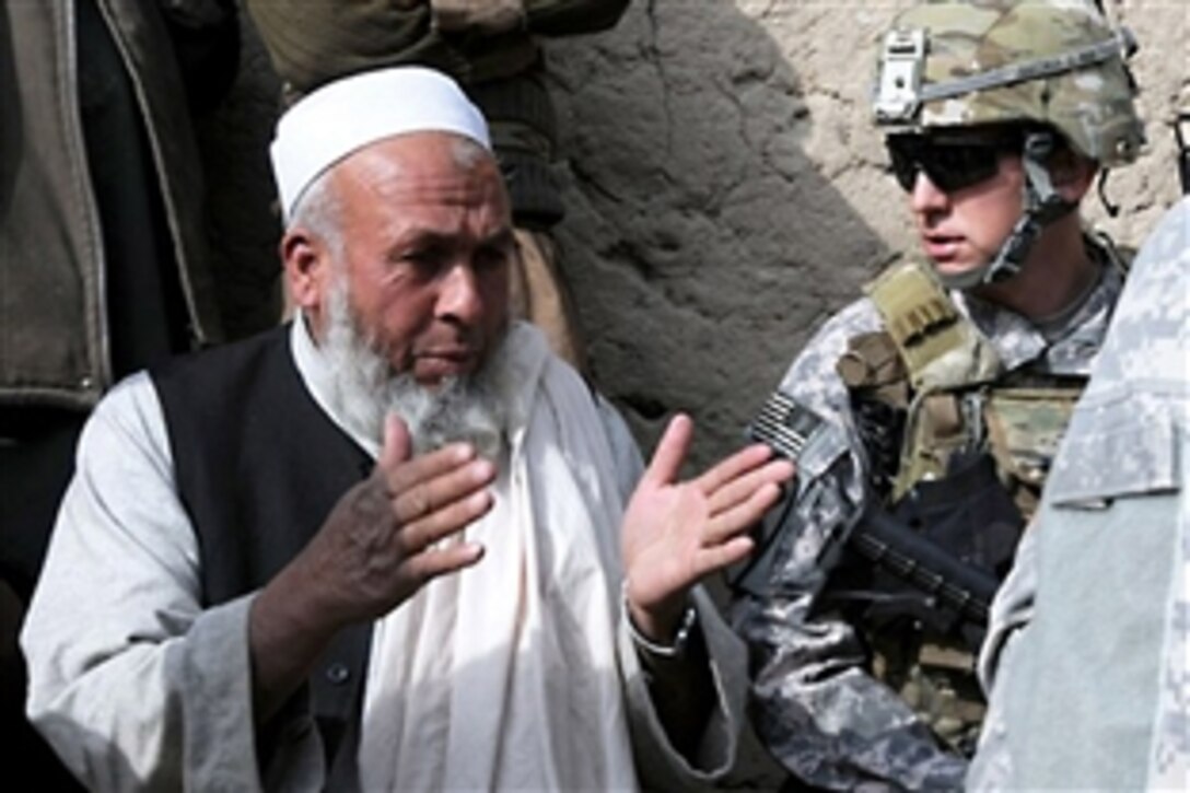
<svg viewBox="0 0 1190 793">
<path fill-rule="evenodd" d="M 624 493 L 594 396 L 509 339 L 509 462 L 465 531 L 487 554 L 376 623 L 367 791 L 634 789 L 616 655 Z"/>
</svg>

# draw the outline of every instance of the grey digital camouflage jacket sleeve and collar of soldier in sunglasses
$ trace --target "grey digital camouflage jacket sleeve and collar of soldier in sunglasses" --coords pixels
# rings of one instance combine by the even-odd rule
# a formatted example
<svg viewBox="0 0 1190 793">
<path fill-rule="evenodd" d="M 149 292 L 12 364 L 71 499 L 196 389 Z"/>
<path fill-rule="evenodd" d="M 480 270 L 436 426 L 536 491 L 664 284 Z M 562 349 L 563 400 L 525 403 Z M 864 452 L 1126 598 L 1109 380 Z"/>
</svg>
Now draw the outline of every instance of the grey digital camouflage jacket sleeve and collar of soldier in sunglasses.
<svg viewBox="0 0 1190 793">
<path fill-rule="evenodd" d="M 1121 288 L 1122 274 L 1104 266 L 1083 305 L 1045 335 L 1014 312 L 951 296 L 1006 374 L 1088 375 Z M 865 507 L 864 447 L 835 363 L 850 338 L 879 329 L 876 306 L 858 300 L 826 323 L 785 374 L 781 391 L 825 419 L 825 433 L 797 461 L 797 492 L 764 593 L 738 593 L 732 620 L 750 645 L 757 731 L 789 770 L 829 789 L 957 789 L 965 758 L 939 748 L 906 703 L 866 672 L 852 625 L 814 611 L 829 573 L 822 550 Z"/>
</svg>

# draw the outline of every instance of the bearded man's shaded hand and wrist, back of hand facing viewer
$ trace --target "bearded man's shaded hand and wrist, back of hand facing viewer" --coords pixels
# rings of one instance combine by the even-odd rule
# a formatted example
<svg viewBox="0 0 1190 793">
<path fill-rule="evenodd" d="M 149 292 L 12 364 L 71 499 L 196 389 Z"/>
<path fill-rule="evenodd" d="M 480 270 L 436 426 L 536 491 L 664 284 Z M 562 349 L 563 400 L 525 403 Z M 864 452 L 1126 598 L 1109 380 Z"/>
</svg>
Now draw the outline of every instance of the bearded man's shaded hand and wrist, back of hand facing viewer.
<svg viewBox="0 0 1190 793">
<path fill-rule="evenodd" d="M 491 508 L 495 466 L 468 444 L 411 457 L 405 423 L 389 417 L 384 448 L 309 544 L 261 591 L 250 616 L 257 719 L 305 680 L 334 633 L 388 613 L 430 580 L 483 556 L 446 542 Z"/>
</svg>

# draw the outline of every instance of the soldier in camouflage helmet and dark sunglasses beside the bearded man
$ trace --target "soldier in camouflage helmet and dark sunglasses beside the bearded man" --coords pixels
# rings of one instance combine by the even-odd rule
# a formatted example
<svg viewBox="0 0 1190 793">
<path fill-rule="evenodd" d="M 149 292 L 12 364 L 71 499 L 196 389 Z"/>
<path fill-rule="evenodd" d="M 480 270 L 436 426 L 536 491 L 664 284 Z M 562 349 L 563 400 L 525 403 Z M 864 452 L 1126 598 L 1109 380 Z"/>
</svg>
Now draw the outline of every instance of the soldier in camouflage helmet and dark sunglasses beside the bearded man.
<svg viewBox="0 0 1190 793">
<path fill-rule="evenodd" d="M 798 480 L 732 581 L 756 726 L 812 785 L 962 786 L 988 604 L 1122 286 L 1078 210 L 1144 143 L 1133 49 L 1059 0 L 921 5 L 883 40 L 927 263 L 831 318 L 754 422 Z"/>
</svg>

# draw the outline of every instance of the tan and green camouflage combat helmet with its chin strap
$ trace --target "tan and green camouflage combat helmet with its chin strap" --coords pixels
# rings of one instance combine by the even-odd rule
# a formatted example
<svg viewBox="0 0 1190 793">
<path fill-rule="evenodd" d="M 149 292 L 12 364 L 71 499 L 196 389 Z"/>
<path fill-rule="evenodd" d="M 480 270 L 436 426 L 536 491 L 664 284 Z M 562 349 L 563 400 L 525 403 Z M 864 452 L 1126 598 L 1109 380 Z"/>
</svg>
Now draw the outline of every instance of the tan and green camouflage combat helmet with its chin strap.
<svg viewBox="0 0 1190 793">
<path fill-rule="evenodd" d="M 1057 145 L 1052 132 L 1102 168 L 1138 157 L 1145 133 L 1127 67 L 1135 49 L 1132 33 L 1109 26 L 1091 0 L 932 0 L 896 18 L 881 51 L 877 126 L 889 136 L 1035 130 L 1021 151 L 1025 213 L 975 283 L 1016 273 L 1040 229 L 1073 208 L 1044 164 Z"/>
</svg>

